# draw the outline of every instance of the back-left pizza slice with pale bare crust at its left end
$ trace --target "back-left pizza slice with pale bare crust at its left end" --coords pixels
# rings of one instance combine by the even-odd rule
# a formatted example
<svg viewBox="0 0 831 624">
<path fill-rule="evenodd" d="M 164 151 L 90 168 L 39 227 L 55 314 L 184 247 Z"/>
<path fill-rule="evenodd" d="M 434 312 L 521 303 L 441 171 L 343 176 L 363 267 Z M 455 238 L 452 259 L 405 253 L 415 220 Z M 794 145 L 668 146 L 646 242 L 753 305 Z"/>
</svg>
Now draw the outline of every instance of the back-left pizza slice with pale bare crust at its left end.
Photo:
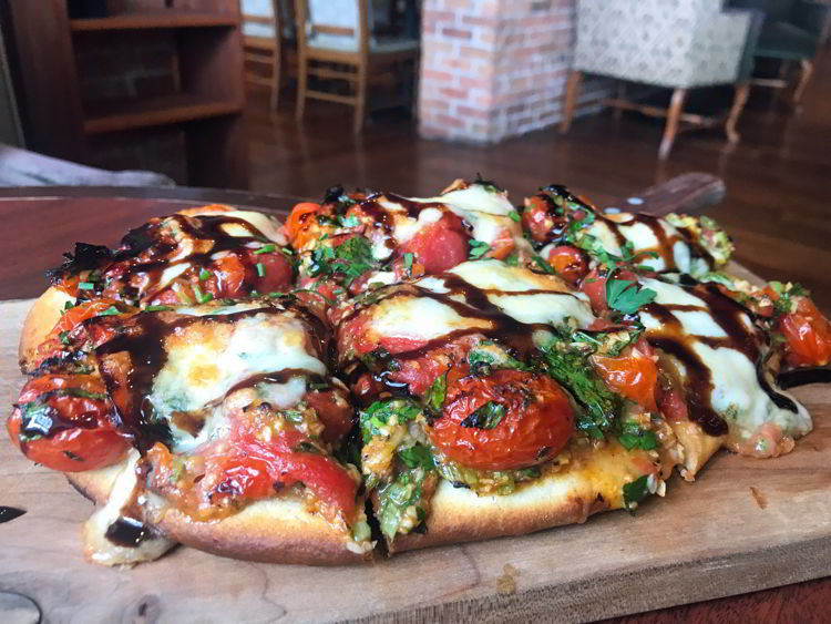
<svg viewBox="0 0 831 624">
<path fill-rule="evenodd" d="M 49 272 L 52 287 L 24 326 L 24 371 L 59 355 L 61 337 L 73 324 L 119 304 L 192 305 L 284 291 L 294 283 L 294 256 L 279 224 L 263 213 L 220 205 L 153 218 L 131 229 L 116 249 L 78 243 L 66 258 Z"/>
</svg>

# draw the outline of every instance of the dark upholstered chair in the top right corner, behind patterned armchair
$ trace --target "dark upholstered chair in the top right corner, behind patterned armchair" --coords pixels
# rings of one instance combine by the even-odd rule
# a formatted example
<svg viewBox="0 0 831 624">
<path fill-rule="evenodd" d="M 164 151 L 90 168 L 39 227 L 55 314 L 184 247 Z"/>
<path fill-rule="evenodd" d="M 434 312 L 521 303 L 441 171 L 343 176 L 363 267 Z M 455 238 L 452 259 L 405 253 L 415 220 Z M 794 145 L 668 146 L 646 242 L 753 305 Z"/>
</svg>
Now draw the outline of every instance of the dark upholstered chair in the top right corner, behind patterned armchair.
<svg viewBox="0 0 831 624">
<path fill-rule="evenodd" d="M 831 2 L 823 0 L 731 0 L 731 7 L 756 9 L 762 14 L 761 32 L 753 49 L 758 60 L 773 59 L 779 63 L 776 78 L 753 75 L 751 84 L 793 88 L 798 104 L 813 74 L 813 59 L 828 28 Z M 796 81 L 789 75 L 799 64 Z"/>
</svg>

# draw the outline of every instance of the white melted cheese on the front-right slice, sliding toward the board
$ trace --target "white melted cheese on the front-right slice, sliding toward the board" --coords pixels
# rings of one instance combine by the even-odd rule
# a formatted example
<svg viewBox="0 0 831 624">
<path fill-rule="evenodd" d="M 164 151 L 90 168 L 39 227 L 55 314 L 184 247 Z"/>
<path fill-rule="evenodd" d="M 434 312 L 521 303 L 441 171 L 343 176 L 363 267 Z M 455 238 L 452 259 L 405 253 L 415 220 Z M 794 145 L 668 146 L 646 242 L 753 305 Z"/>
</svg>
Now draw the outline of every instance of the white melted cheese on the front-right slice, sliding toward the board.
<svg viewBox="0 0 831 624">
<path fill-rule="evenodd" d="M 681 338 L 689 341 L 695 354 L 710 371 L 712 382 L 711 408 L 727 422 L 730 437 L 739 441 L 750 439 L 766 422 L 778 424 L 787 436 L 803 436 L 811 430 L 811 418 L 808 411 L 789 393 L 779 393 L 793 400 L 797 411 L 778 407 L 759 383 L 756 362 L 737 349 L 706 344 L 707 338 L 725 338 L 727 334 L 716 323 L 707 304 L 680 286 L 657 279 L 642 278 L 640 284 L 656 293 L 655 301 L 663 305 L 696 306 L 697 310 L 670 310 L 683 329 Z M 640 313 L 640 320 L 646 328 L 646 336 L 660 336 L 667 328 L 660 320 Z M 756 331 L 750 319 L 742 319 L 749 335 Z M 749 336 L 749 340 L 755 337 Z M 686 376 L 686 369 L 680 368 Z"/>
</svg>

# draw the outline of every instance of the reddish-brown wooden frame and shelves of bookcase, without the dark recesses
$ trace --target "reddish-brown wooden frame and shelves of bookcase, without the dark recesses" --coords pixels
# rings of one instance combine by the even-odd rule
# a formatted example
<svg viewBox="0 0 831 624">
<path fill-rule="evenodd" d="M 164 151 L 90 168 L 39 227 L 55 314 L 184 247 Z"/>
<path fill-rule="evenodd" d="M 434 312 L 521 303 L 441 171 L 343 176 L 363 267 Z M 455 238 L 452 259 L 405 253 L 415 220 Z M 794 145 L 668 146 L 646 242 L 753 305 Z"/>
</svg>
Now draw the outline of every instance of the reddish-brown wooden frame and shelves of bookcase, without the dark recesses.
<svg viewBox="0 0 831 624">
<path fill-rule="evenodd" d="M 102 166 L 95 152 L 98 137 L 106 135 L 107 141 L 117 143 L 121 132 L 170 129 L 184 133 L 184 147 L 178 153 L 186 163 L 187 178 L 179 182 L 247 187 L 238 0 L 172 3 L 165 9 L 163 0 L 131 0 L 126 12 L 125 0 L 109 0 L 109 17 L 71 20 L 66 0 L 7 0 L 0 17 L 7 19 L 12 34 L 10 55 L 17 70 L 27 146 Z M 86 45 L 106 47 L 127 31 L 130 37 L 141 38 L 138 41 L 150 33 L 168 33 L 175 86 L 153 96 L 84 96 L 89 81 L 81 80 L 78 54 L 89 51 Z M 123 137 L 125 144 L 136 140 L 141 134 L 135 132 Z"/>
</svg>

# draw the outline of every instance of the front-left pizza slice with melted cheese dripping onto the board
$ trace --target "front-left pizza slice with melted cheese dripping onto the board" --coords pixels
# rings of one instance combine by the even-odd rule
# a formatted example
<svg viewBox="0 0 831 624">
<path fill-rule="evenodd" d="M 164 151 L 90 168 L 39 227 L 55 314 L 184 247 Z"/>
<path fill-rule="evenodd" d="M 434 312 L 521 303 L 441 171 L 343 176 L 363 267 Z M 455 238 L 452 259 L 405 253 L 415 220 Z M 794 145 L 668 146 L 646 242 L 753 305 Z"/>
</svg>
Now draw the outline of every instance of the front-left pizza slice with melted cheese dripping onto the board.
<svg viewBox="0 0 831 624">
<path fill-rule="evenodd" d="M 321 310 L 295 297 L 117 306 L 64 337 L 8 423 L 100 505 L 88 559 L 135 563 L 176 542 L 261 561 L 370 556 L 360 477 L 337 457 L 352 409 Z"/>
</svg>

